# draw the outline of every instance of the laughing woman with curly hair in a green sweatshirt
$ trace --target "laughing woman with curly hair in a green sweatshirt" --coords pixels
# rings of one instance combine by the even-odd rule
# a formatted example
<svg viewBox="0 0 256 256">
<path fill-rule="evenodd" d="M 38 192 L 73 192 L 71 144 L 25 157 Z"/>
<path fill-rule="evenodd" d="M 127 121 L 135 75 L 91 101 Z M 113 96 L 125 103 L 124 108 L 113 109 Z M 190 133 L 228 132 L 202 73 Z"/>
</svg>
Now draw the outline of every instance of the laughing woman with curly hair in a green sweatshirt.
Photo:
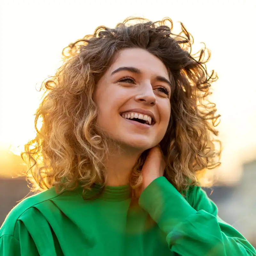
<svg viewBox="0 0 256 256">
<path fill-rule="evenodd" d="M 219 164 L 216 76 L 172 21 L 127 19 L 70 44 L 25 145 L 44 192 L 1 228 L 1 255 L 256 255 L 199 186 Z"/>
</svg>

